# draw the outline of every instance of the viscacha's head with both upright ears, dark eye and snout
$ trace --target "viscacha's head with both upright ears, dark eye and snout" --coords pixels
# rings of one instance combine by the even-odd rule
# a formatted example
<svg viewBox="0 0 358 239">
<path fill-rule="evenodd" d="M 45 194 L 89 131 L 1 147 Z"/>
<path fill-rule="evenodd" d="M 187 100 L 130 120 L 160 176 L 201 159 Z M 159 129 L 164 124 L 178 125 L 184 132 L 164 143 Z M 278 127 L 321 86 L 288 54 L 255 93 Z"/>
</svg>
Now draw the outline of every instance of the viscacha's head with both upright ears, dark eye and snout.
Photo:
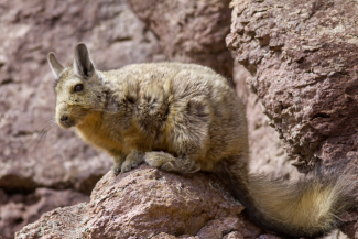
<svg viewBox="0 0 358 239">
<path fill-rule="evenodd" d="M 96 72 L 84 43 L 75 47 L 73 65 L 64 67 L 48 53 L 48 63 L 56 77 L 56 121 L 62 128 L 83 122 L 86 117 L 104 108 L 104 90 L 100 74 Z"/>
</svg>

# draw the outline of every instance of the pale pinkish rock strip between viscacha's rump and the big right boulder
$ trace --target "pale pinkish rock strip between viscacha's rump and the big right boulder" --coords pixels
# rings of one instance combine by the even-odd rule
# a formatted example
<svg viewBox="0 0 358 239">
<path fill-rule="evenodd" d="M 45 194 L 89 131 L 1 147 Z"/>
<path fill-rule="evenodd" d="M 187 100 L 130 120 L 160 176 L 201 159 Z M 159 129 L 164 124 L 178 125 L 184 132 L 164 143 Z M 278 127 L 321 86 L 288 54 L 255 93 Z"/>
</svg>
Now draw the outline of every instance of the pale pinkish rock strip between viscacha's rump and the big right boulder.
<svg viewBox="0 0 358 239">
<path fill-rule="evenodd" d="M 279 139 L 279 133 L 269 126 L 269 118 L 263 113 L 257 95 L 250 93 L 246 84 L 246 79 L 249 77 L 251 77 L 250 73 L 242 65 L 236 63 L 234 67 L 236 91 L 247 106 L 251 171 L 284 176 L 285 178 L 296 177 L 299 173 L 291 165 L 290 157 Z"/>
</svg>

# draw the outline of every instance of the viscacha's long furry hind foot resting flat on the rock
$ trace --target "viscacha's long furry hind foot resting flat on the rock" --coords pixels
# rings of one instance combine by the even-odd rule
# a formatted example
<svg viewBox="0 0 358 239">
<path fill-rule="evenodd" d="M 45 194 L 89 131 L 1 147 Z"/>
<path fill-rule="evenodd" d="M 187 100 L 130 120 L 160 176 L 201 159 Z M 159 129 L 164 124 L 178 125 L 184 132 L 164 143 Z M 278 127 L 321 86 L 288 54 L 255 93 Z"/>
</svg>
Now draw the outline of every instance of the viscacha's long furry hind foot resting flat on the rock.
<svg viewBox="0 0 358 239">
<path fill-rule="evenodd" d="M 164 152 L 148 152 L 144 155 L 144 161 L 154 167 L 167 172 L 182 174 L 195 173 L 200 170 L 200 165 L 189 157 L 174 157 L 170 153 Z"/>
</svg>

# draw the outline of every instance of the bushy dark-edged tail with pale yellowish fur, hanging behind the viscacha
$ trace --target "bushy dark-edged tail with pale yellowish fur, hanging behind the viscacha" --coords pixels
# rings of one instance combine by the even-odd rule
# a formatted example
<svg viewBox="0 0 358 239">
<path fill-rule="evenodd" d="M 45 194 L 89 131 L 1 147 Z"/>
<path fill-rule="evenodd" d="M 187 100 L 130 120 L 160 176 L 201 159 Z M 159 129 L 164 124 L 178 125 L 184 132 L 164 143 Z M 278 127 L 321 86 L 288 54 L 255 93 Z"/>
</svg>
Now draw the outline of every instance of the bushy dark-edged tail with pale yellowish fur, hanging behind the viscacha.
<svg viewBox="0 0 358 239">
<path fill-rule="evenodd" d="M 347 170 L 319 167 L 295 182 L 245 176 L 225 163 L 218 165 L 216 173 L 253 222 L 281 237 L 324 236 L 340 224 L 343 213 L 355 206 L 357 178 Z"/>
</svg>

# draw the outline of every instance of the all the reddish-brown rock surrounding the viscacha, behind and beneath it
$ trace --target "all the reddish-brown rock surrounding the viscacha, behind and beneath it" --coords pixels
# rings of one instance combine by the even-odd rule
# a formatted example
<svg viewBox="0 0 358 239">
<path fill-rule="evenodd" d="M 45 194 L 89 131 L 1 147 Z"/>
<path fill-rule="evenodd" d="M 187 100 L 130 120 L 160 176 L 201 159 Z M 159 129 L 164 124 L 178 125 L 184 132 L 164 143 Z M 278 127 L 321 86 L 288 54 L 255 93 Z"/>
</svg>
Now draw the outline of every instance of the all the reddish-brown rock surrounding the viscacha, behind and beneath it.
<svg viewBox="0 0 358 239">
<path fill-rule="evenodd" d="M 247 105 L 252 171 L 290 178 L 297 174 L 291 159 L 307 171 L 316 161 L 357 157 L 357 6 L 1 1 L 0 236 L 14 238 L 50 211 L 17 238 L 272 238 L 242 217 L 213 175 L 178 177 L 144 165 L 118 178 L 107 173 L 108 155 L 54 124 L 47 53 L 70 64 L 74 46 L 85 42 L 104 70 L 159 61 L 215 68 Z M 203 202 L 203 195 L 211 199 Z M 64 206 L 70 207 L 58 208 Z M 351 238 L 355 218 L 347 216 L 352 222 L 344 228 Z"/>
</svg>

